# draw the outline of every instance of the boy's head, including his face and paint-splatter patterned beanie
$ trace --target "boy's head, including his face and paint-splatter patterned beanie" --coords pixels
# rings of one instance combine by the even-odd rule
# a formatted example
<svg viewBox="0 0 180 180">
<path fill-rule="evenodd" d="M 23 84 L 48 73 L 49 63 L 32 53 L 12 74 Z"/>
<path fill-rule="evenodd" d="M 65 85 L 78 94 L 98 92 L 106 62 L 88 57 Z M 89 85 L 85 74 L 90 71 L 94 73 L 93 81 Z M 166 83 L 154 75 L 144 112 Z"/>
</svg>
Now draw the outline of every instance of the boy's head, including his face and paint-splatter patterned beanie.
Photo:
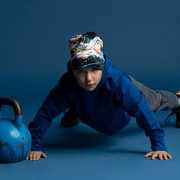
<svg viewBox="0 0 180 180">
<path fill-rule="evenodd" d="M 94 32 L 76 35 L 69 40 L 71 66 L 78 84 L 93 91 L 104 69 L 103 41 Z"/>
</svg>

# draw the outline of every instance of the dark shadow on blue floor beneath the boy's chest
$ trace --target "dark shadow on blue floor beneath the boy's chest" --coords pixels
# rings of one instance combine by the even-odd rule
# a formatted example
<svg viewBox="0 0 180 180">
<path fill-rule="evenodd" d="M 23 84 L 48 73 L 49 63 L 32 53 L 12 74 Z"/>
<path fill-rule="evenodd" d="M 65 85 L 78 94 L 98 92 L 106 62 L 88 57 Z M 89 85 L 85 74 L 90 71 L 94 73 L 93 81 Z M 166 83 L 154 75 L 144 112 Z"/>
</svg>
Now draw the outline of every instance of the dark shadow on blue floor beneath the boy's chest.
<svg viewBox="0 0 180 180">
<path fill-rule="evenodd" d="M 106 151 L 108 153 L 136 153 L 144 155 L 147 151 L 140 150 L 140 148 L 134 150 L 132 148 L 128 149 L 121 142 L 121 139 L 127 138 L 129 135 L 132 137 L 139 133 L 143 133 L 143 130 L 140 130 L 139 127 L 124 129 L 113 136 L 108 136 L 82 123 L 73 128 L 63 128 L 60 125 L 54 125 L 48 130 L 42 144 L 43 150 L 53 152 L 93 150 Z M 117 148 L 111 149 L 110 147 Z"/>
</svg>

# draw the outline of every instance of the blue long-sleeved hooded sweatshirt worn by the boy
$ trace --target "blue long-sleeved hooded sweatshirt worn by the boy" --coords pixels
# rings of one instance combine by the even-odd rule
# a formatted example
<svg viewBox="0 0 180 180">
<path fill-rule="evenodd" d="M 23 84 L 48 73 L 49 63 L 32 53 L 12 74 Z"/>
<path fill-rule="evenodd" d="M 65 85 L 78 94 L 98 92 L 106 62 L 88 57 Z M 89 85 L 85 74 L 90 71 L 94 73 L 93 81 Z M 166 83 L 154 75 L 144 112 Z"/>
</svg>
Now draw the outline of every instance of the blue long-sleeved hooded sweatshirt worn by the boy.
<svg viewBox="0 0 180 180">
<path fill-rule="evenodd" d="M 41 151 L 41 141 L 52 119 L 72 108 L 81 122 L 99 132 L 113 135 L 128 125 L 130 117 L 136 117 L 140 128 L 149 136 L 153 151 L 167 151 L 164 131 L 145 100 L 142 92 L 129 76 L 114 67 L 105 56 L 105 66 L 96 89 L 88 92 L 73 76 L 70 62 L 68 71 L 48 94 L 29 124 L 32 135 L 32 151 Z"/>
</svg>

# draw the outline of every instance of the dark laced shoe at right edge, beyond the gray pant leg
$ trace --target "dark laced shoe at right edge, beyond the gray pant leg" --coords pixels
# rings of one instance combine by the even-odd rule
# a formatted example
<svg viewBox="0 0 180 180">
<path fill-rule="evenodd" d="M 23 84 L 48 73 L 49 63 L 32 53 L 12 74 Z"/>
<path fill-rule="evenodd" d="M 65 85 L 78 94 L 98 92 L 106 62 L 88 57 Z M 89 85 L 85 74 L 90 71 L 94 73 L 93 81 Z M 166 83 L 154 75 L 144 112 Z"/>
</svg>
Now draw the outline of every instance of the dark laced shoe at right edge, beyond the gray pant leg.
<svg viewBox="0 0 180 180">
<path fill-rule="evenodd" d="M 180 98 L 180 90 L 178 90 L 175 95 Z M 170 116 L 172 115 L 176 115 L 176 127 L 180 128 L 180 106 L 178 106 L 177 108 L 172 109 L 172 113 L 166 118 L 166 124 L 169 123 L 170 120 Z"/>
</svg>

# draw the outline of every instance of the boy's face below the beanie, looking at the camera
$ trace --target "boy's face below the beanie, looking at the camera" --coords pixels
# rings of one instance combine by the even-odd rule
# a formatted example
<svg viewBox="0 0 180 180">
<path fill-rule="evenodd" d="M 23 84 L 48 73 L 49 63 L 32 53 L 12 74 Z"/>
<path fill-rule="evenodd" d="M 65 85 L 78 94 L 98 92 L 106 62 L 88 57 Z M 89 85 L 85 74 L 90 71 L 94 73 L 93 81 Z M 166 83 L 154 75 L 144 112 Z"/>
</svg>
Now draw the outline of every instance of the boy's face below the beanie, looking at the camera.
<svg viewBox="0 0 180 180">
<path fill-rule="evenodd" d="M 101 80 L 102 70 L 81 68 L 74 71 L 73 75 L 82 88 L 86 91 L 93 91 Z"/>
</svg>

